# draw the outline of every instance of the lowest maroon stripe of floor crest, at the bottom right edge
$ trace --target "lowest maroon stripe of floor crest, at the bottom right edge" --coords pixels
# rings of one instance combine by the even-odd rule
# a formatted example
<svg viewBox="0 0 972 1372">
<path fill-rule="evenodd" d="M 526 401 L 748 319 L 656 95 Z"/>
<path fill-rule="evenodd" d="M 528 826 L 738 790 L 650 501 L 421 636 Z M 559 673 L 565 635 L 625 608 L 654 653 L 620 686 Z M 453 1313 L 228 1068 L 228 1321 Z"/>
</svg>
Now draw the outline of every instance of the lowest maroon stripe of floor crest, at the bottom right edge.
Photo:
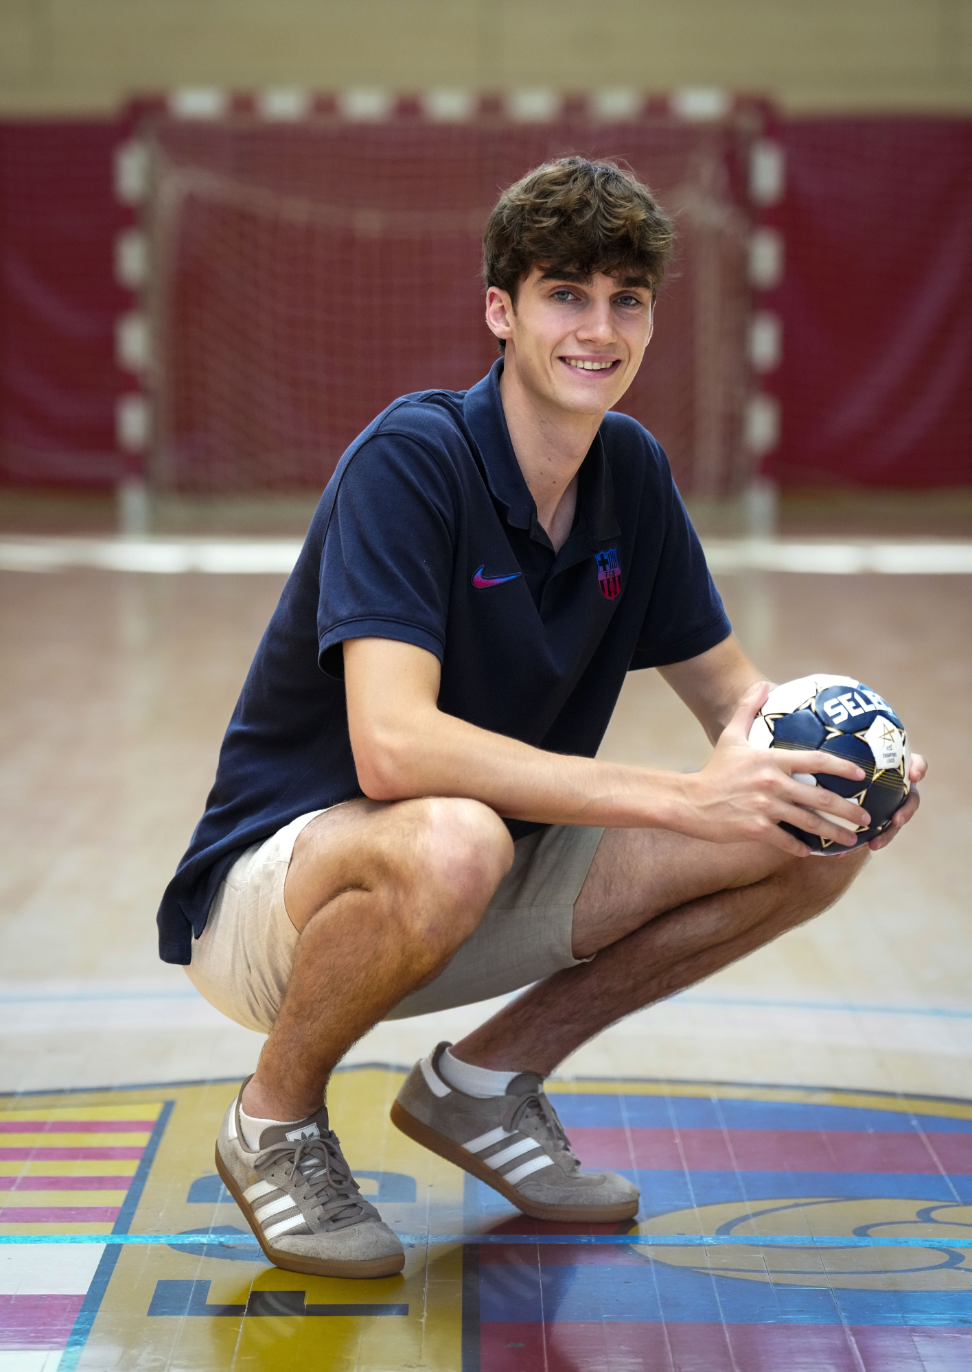
<svg viewBox="0 0 972 1372">
<path fill-rule="evenodd" d="M 968 1372 L 972 1328 L 835 1324 L 482 1325 L 489 1372 Z"/>
</svg>

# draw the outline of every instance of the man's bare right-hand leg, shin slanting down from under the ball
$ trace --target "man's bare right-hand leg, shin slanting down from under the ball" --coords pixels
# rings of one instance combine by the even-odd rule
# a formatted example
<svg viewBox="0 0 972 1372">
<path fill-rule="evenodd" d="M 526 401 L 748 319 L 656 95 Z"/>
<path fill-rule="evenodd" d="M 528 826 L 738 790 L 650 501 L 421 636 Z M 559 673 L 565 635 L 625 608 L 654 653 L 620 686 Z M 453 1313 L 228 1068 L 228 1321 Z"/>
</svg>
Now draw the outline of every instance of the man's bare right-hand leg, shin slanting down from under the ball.
<svg viewBox="0 0 972 1372">
<path fill-rule="evenodd" d="M 608 831 L 574 921 L 575 956 L 597 958 L 531 986 L 453 1052 L 483 1067 L 548 1076 L 608 1025 L 826 910 L 866 853 L 794 859 L 759 844 Z"/>
</svg>

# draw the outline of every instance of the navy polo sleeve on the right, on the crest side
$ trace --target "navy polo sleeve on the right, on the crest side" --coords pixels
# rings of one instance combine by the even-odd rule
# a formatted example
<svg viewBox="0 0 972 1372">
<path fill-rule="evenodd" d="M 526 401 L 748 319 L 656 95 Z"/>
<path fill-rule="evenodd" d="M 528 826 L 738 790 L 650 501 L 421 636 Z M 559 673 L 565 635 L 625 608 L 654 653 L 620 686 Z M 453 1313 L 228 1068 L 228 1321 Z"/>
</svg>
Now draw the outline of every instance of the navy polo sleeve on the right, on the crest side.
<svg viewBox="0 0 972 1372">
<path fill-rule="evenodd" d="M 732 632 L 699 535 L 674 482 L 670 490 L 671 506 L 658 572 L 632 668 L 684 663 L 715 648 Z"/>
</svg>

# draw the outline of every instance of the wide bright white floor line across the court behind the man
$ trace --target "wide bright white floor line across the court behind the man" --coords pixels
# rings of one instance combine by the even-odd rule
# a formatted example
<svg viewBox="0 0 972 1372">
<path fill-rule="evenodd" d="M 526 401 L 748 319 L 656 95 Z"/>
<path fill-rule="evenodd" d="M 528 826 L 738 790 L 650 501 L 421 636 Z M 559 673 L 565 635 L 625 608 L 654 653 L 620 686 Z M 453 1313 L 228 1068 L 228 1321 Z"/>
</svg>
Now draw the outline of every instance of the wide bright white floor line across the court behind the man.
<svg viewBox="0 0 972 1372">
<path fill-rule="evenodd" d="M 703 539 L 714 572 L 813 575 L 972 575 L 972 539 Z M 0 571 L 290 573 L 302 541 L 292 538 L 165 538 L 21 535 L 0 538 Z"/>
</svg>

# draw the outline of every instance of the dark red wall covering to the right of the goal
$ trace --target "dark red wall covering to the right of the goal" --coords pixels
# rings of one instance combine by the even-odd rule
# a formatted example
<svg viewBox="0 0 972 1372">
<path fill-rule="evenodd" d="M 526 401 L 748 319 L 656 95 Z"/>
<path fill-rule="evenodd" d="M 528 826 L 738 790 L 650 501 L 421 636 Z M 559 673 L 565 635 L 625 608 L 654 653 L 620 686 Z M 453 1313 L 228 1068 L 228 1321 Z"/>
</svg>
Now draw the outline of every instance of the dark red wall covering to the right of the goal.
<svg viewBox="0 0 972 1372">
<path fill-rule="evenodd" d="M 972 121 L 784 129 L 783 442 L 765 471 L 972 483 Z"/>
</svg>

